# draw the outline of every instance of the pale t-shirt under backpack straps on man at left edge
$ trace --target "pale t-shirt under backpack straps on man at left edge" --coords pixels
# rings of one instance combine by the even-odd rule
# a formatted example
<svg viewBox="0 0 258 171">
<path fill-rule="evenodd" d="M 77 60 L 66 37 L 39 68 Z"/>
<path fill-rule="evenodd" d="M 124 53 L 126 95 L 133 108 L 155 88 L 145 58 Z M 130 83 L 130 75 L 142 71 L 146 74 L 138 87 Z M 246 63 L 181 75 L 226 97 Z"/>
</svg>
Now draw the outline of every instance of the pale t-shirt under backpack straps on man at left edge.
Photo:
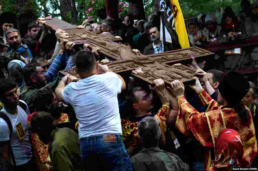
<svg viewBox="0 0 258 171">
<path fill-rule="evenodd" d="M 20 100 L 21 101 L 21 100 Z M 25 102 L 24 102 L 25 103 Z M 25 103 L 26 104 L 26 103 Z M 26 104 L 27 106 L 27 104 Z M 13 126 L 13 133 L 12 133 L 12 139 L 11 139 L 11 147 L 14 154 L 14 159 L 16 162 L 16 165 L 22 165 L 25 163 L 28 163 L 30 158 L 32 157 L 32 151 L 31 151 L 31 143 L 29 140 L 29 125 L 27 121 L 29 113 L 26 113 L 20 106 L 17 106 L 18 108 L 18 114 L 12 115 L 8 113 L 5 108 L 1 110 L 1 112 L 5 113 Z M 28 109 L 28 106 L 27 106 Z M 15 125 L 21 123 L 23 130 L 26 134 L 24 140 L 20 141 L 17 130 L 15 128 Z M 4 121 L 3 118 L 0 118 L 0 141 L 8 141 L 10 140 L 10 130 L 7 125 L 7 123 Z M 11 159 L 12 161 L 12 159 Z"/>
</svg>

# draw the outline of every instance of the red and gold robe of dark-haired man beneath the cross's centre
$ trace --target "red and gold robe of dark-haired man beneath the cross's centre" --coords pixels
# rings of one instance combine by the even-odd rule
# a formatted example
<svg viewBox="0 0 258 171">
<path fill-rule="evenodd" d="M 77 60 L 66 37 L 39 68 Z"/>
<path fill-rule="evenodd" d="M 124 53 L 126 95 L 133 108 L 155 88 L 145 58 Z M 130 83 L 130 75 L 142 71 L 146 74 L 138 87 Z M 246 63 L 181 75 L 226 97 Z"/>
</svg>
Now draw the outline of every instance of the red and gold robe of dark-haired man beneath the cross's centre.
<svg viewBox="0 0 258 171">
<path fill-rule="evenodd" d="M 159 121 L 159 127 L 161 130 L 162 145 L 166 144 L 165 132 L 167 130 L 166 120 L 170 111 L 169 105 L 162 105 L 158 113 L 154 116 Z M 125 119 L 121 119 L 122 131 L 123 131 L 123 142 L 126 149 L 130 154 L 133 153 L 133 146 L 140 146 L 141 141 L 137 136 L 137 125 L 139 122 L 130 122 Z M 171 133 L 173 140 L 175 136 Z"/>
</svg>

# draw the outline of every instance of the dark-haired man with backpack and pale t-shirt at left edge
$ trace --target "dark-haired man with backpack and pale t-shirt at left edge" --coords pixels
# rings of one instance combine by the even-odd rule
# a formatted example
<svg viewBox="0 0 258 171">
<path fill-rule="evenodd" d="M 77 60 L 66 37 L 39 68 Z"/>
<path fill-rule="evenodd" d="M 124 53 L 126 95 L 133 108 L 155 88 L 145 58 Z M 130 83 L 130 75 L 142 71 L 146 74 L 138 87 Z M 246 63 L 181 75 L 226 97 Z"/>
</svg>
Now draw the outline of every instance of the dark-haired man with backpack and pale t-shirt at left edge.
<svg viewBox="0 0 258 171">
<path fill-rule="evenodd" d="M 7 115 L 12 124 L 12 134 L 7 122 L 0 118 L 0 151 L 3 152 L 4 170 L 35 170 L 35 160 L 32 156 L 31 142 L 29 140 L 29 125 L 27 117 L 30 114 L 27 104 L 17 95 L 16 83 L 9 79 L 0 80 L 0 100 L 4 104 L 1 110 Z M 19 106 L 19 102 L 26 105 L 27 110 Z M 14 155 L 12 160 L 9 144 Z M 16 165 L 16 166 L 15 166 Z"/>
</svg>

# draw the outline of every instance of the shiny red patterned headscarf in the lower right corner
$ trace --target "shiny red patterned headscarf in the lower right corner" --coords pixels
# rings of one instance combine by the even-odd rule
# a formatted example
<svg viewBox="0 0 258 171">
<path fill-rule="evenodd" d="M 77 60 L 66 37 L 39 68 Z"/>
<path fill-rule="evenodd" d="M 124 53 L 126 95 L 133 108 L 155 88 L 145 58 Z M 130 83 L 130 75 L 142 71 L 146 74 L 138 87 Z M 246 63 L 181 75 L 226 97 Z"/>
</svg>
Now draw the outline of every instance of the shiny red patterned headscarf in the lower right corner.
<svg viewBox="0 0 258 171">
<path fill-rule="evenodd" d="M 224 129 L 218 136 L 212 167 L 210 170 L 230 170 L 231 167 L 244 167 L 244 148 L 237 131 Z"/>
</svg>

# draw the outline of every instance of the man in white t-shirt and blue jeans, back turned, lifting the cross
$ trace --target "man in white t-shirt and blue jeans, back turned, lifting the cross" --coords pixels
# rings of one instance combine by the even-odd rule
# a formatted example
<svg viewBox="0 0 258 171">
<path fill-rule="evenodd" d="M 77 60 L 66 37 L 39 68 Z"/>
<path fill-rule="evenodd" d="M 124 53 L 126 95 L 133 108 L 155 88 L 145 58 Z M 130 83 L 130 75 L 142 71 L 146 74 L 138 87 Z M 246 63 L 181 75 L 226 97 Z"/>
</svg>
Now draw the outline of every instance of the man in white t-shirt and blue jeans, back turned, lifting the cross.
<svg viewBox="0 0 258 171">
<path fill-rule="evenodd" d="M 100 65 L 88 50 L 79 51 L 74 58 L 81 79 L 71 82 L 72 77 L 65 76 L 55 93 L 59 101 L 72 105 L 78 118 L 85 170 L 88 166 L 94 170 L 133 170 L 122 140 L 117 99 L 125 90 L 124 79 Z"/>
</svg>

